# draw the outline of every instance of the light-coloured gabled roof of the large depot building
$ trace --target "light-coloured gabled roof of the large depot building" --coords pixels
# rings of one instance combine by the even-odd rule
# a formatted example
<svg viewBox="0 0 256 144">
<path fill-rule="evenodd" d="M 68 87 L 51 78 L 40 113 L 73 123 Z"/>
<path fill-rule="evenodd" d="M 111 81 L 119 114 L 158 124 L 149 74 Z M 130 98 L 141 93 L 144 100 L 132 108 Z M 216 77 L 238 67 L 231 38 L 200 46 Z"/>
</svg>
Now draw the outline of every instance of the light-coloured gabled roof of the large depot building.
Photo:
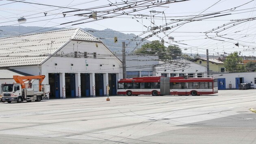
<svg viewBox="0 0 256 144">
<path fill-rule="evenodd" d="M 41 64 L 70 40 L 101 42 L 78 28 L 0 38 L 0 68 Z"/>
</svg>

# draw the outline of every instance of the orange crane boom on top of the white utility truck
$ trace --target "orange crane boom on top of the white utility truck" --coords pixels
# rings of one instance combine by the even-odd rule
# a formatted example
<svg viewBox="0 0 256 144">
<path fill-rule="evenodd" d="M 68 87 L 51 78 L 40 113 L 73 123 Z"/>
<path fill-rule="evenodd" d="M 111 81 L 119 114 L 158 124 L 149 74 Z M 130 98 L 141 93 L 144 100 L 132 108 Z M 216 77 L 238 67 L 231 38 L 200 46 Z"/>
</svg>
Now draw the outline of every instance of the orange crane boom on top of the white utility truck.
<svg viewBox="0 0 256 144">
<path fill-rule="evenodd" d="M 38 76 L 13 76 L 13 79 L 16 83 L 20 83 L 22 85 L 22 89 L 26 88 L 26 85 L 24 82 L 28 81 L 28 84 L 31 82 L 31 80 L 39 80 L 39 91 L 42 90 L 41 83 L 43 82 L 43 79 L 45 78 L 45 75 L 38 75 Z"/>
</svg>

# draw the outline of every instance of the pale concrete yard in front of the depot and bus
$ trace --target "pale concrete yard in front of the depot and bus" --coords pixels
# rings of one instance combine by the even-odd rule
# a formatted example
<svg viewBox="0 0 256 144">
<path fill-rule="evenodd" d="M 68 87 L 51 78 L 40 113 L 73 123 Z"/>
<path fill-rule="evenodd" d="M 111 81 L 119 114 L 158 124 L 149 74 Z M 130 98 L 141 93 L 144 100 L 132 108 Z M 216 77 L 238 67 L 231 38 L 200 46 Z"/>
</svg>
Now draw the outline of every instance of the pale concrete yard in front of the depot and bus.
<svg viewBox="0 0 256 144">
<path fill-rule="evenodd" d="M 0 103 L 1 143 L 256 143 L 256 89 Z"/>
</svg>

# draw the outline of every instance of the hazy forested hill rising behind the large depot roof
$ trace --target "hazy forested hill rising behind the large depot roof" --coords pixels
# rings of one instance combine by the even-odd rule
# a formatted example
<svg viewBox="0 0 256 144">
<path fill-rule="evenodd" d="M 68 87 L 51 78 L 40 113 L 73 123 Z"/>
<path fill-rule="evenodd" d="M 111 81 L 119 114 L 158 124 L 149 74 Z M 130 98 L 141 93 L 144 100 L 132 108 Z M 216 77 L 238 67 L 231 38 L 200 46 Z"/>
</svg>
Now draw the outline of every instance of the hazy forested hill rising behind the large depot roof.
<svg viewBox="0 0 256 144">
<path fill-rule="evenodd" d="M 63 29 L 63 28 L 62 28 Z M 80 28 L 85 32 L 95 36 L 102 40 L 102 42 L 114 53 L 121 53 L 122 51 L 122 42 L 128 44 L 131 39 L 135 38 L 135 34 L 124 34 L 121 32 L 117 32 L 111 29 L 105 30 L 94 30 L 91 28 Z M 35 34 L 39 32 L 48 32 L 53 30 L 61 30 L 60 28 L 45 28 L 45 27 L 37 27 L 37 26 L 2 26 L 0 27 L 0 38 L 3 37 L 11 37 L 11 36 L 19 36 L 24 34 Z M 117 42 L 114 42 L 114 37 L 117 37 Z M 141 38 L 138 38 L 141 39 Z M 149 40 L 145 40 L 145 42 L 150 42 Z M 142 44 L 143 44 L 142 43 Z M 137 48 L 140 48 L 142 44 L 137 46 L 135 41 L 130 42 L 129 45 L 126 46 L 126 52 L 132 52 Z"/>
</svg>

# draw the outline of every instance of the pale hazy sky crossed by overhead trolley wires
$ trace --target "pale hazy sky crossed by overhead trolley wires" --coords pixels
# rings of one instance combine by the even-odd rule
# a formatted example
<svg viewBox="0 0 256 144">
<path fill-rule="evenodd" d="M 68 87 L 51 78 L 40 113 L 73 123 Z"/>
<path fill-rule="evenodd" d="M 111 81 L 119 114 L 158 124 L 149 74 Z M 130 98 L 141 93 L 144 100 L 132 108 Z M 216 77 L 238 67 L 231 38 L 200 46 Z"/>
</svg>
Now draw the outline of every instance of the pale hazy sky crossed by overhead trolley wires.
<svg viewBox="0 0 256 144">
<path fill-rule="evenodd" d="M 9 25 L 111 29 L 163 40 L 183 53 L 208 49 L 209 55 L 256 56 L 255 6 L 256 0 L 0 0 L 0 30 Z M 17 21 L 21 17 L 25 23 Z"/>
</svg>

